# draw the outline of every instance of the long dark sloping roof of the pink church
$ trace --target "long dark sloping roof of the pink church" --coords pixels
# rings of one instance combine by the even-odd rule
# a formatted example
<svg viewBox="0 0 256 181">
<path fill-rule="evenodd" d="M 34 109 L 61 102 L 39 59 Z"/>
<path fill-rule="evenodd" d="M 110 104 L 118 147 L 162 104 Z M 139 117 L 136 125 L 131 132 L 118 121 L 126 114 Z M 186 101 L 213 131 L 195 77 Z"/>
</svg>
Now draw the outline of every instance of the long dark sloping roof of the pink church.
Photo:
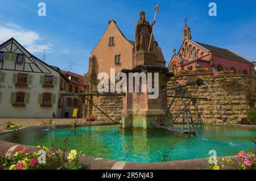
<svg viewBox="0 0 256 181">
<path fill-rule="evenodd" d="M 238 61 L 250 62 L 250 61 L 246 60 L 246 58 L 243 58 L 242 56 L 232 52 L 231 50 L 224 49 L 224 48 L 219 48 L 219 47 L 214 47 L 212 45 L 208 45 L 208 44 L 204 44 L 204 43 L 199 43 L 199 42 L 196 42 L 196 43 L 201 45 L 202 47 L 208 49 L 209 51 L 212 51 L 213 54 L 215 54 L 216 56 L 232 58 L 232 59 L 238 60 Z"/>
</svg>

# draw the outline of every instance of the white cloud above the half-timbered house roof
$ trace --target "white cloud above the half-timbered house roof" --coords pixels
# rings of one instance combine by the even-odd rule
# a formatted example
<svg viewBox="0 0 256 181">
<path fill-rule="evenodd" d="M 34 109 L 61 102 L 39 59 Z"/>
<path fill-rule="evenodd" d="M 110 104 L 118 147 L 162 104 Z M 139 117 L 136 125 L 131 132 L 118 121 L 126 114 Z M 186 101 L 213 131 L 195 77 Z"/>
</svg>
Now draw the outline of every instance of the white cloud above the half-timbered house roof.
<svg viewBox="0 0 256 181">
<path fill-rule="evenodd" d="M 4 42 L 14 37 L 20 44 L 22 44 L 29 52 L 38 53 L 45 50 L 51 50 L 51 44 L 39 44 L 41 40 L 39 33 L 23 30 L 14 23 L 7 23 L 6 27 L 0 26 L 0 41 Z"/>
</svg>

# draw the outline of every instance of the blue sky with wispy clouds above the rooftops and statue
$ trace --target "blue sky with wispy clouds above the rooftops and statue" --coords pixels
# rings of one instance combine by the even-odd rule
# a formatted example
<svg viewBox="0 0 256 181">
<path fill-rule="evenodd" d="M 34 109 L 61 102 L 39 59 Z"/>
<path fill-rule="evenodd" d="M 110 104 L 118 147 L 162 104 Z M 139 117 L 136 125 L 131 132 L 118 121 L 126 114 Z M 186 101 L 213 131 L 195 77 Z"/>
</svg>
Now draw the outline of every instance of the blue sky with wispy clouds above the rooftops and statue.
<svg viewBox="0 0 256 181">
<path fill-rule="evenodd" d="M 38 16 L 38 3 L 46 3 L 47 16 Z M 217 16 L 209 16 L 209 3 L 216 2 Z M 90 51 L 114 19 L 127 39 L 134 40 L 134 28 L 141 10 L 150 21 L 158 4 L 154 36 L 163 49 L 167 65 L 174 48 L 182 43 L 184 19 L 188 18 L 192 40 L 228 48 L 256 61 L 255 0 L 0 0 L 0 41 L 14 36 L 32 54 L 46 62 L 84 74 Z"/>
</svg>

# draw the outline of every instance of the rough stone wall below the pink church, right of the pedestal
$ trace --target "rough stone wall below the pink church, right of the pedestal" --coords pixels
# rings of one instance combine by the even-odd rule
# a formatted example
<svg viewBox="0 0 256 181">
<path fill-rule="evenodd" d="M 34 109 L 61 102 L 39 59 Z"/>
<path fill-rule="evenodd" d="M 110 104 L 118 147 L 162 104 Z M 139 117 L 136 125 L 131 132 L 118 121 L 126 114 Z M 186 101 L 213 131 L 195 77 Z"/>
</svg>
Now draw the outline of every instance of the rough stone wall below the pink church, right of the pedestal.
<svg viewBox="0 0 256 181">
<path fill-rule="evenodd" d="M 232 79 L 232 77 L 239 77 Z M 222 123 L 221 113 L 223 117 L 232 121 L 241 121 L 246 119 L 246 111 L 250 107 L 255 107 L 256 97 L 256 77 L 249 77 L 247 75 L 234 76 L 229 75 L 230 81 L 226 81 L 227 76 L 213 77 L 212 74 L 189 74 L 189 75 L 176 75 L 168 82 L 168 87 L 175 85 L 179 82 L 190 82 L 196 79 L 203 79 L 209 84 L 214 94 L 210 93 L 207 86 L 189 86 L 185 88 L 185 96 L 193 96 L 196 98 L 208 98 L 209 100 L 197 100 L 197 107 L 201 117 L 205 123 Z M 175 91 L 168 91 L 168 95 L 174 95 Z M 170 103 L 172 98 L 168 98 Z M 189 99 L 184 99 L 188 103 Z M 217 108 L 217 102 L 220 111 Z M 171 112 L 174 117 L 182 110 L 183 104 L 180 99 L 175 100 Z M 189 106 L 193 119 L 196 120 L 197 113 L 193 106 Z M 177 121 L 182 121 L 180 115 Z"/>
</svg>

